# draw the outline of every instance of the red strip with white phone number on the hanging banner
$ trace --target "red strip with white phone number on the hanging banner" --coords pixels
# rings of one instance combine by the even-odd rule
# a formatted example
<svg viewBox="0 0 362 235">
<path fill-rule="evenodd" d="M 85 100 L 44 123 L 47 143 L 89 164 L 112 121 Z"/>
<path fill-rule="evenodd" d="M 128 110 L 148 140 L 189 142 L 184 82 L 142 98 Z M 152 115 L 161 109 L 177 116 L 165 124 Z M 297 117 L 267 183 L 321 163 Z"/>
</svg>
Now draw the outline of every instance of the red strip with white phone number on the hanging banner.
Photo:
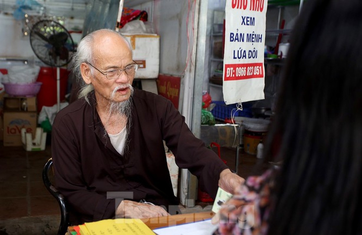
<svg viewBox="0 0 362 235">
<path fill-rule="evenodd" d="M 242 80 L 249 78 L 263 78 L 263 63 L 251 64 L 226 64 L 224 80 Z"/>
</svg>

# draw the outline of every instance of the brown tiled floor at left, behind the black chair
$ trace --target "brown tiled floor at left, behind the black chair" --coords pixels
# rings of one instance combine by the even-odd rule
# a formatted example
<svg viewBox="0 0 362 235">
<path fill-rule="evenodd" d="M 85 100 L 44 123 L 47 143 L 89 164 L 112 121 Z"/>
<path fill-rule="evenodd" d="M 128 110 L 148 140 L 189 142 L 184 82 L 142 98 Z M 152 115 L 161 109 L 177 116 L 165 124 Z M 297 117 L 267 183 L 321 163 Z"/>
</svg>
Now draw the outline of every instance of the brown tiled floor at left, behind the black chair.
<svg viewBox="0 0 362 235">
<path fill-rule="evenodd" d="M 1 143 L 0 149 L 0 219 L 58 213 L 58 204 L 42 181 L 50 146 L 46 151 L 26 152 Z"/>
</svg>

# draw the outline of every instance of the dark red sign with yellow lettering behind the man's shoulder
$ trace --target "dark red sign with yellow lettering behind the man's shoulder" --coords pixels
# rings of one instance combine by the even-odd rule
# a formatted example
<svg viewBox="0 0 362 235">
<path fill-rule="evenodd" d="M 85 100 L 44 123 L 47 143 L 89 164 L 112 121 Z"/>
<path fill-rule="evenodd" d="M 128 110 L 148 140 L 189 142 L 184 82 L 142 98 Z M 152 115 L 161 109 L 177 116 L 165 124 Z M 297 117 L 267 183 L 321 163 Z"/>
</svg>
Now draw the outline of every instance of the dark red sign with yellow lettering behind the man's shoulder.
<svg viewBox="0 0 362 235">
<path fill-rule="evenodd" d="M 181 77 L 159 74 L 156 82 L 159 95 L 171 100 L 175 108 L 178 109 Z"/>
</svg>

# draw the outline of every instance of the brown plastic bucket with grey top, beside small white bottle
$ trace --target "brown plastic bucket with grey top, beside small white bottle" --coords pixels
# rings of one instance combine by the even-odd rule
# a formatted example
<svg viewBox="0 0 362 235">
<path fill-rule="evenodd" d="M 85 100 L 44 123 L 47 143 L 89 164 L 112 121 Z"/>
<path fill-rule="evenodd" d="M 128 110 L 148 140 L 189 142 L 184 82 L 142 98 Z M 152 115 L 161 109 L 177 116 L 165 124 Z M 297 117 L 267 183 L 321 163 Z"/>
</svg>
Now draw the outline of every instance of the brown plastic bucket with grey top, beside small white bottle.
<svg viewBox="0 0 362 235">
<path fill-rule="evenodd" d="M 244 119 L 244 151 L 251 155 L 256 155 L 256 149 L 268 131 L 270 120 L 248 118 Z"/>
</svg>

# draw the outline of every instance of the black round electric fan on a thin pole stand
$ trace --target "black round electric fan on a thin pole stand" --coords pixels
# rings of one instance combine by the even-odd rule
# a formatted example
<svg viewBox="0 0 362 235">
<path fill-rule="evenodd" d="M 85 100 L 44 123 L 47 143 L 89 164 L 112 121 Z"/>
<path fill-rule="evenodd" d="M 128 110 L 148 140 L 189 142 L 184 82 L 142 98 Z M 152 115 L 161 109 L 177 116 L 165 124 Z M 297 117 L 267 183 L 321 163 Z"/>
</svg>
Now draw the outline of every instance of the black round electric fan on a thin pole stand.
<svg viewBox="0 0 362 235">
<path fill-rule="evenodd" d="M 53 20 L 35 23 L 30 31 L 30 45 L 35 55 L 50 66 L 56 66 L 57 112 L 60 109 L 60 67 L 70 62 L 74 43 L 70 33 Z"/>
</svg>

